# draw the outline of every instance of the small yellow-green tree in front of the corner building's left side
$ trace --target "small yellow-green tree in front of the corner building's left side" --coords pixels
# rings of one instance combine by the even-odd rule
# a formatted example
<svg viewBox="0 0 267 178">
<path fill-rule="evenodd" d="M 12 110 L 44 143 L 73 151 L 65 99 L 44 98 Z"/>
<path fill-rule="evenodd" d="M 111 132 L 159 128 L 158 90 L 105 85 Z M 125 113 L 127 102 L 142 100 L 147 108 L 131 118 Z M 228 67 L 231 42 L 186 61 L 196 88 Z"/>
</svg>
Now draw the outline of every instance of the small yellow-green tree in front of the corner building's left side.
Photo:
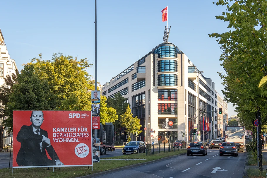
<svg viewBox="0 0 267 178">
<path fill-rule="evenodd" d="M 127 141 L 131 141 L 131 133 L 132 134 L 140 134 L 142 131 L 140 130 L 140 119 L 136 117 L 133 117 L 133 114 L 131 113 L 131 108 L 128 105 L 126 108 L 126 112 L 121 115 L 120 119 L 121 126 L 126 128 L 126 132 L 128 132 L 128 139 Z"/>
</svg>

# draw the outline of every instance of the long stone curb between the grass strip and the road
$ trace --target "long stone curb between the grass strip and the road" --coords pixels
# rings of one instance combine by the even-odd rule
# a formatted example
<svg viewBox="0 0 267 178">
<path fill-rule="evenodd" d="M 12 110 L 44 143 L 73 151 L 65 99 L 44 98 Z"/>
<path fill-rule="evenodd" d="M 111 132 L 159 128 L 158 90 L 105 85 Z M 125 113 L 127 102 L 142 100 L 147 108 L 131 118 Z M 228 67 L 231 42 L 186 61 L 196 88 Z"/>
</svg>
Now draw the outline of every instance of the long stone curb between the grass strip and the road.
<svg viewBox="0 0 267 178">
<path fill-rule="evenodd" d="M 158 160 L 153 160 L 153 161 L 148 161 L 148 162 L 142 162 L 142 163 L 138 163 L 138 164 L 135 164 L 135 165 L 124 166 L 124 167 L 120 167 L 120 168 L 117 168 L 117 169 L 103 171 L 103 172 L 97 172 L 97 173 L 94 173 L 94 174 L 89 174 L 89 175 L 86 175 L 86 176 L 81 176 L 81 177 L 76 177 L 76 178 L 98 177 L 98 176 L 102 176 L 102 175 L 105 175 L 105 174 L 111 174 L 111 173 L 114 173 L 114 172 L 119 172 L 119 171 L 122 171 L 122 170 L 127 170 L 127 169 L 130 169 L 130 168 L 133 168 L 133 167 L 138 167 L 138 166 L 141 166 L 141 165 L 146 165 L 146 164 L 150 164 L 150 163 L 154 163 L 154 162 L 158 162 L 158 161 L 162 161 L 162 160 L 167 160 L 169 158 L 174 158 L 176 156 L 181 156 L 181 155 L 185 155 L 185 154 L 186 153 L 181 153 L 179 155 L 168 156 L 168 157 L 161 158 L 161 159 L 158 159 Z"/>
</svg>

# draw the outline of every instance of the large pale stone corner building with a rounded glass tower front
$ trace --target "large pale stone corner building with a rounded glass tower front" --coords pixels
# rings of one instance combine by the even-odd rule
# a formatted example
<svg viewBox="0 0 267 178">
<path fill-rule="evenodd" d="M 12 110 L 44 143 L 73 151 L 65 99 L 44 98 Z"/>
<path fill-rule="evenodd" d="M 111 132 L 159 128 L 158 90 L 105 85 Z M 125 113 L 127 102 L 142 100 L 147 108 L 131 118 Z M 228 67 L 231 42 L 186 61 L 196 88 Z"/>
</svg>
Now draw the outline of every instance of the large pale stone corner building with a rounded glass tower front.
<svg viewBox="0 0 267 178">
<path fill-rule="evenodd" d="M 170 143 L 217 138 L 215 84 L 170 42 L 158 45 L 102 86 L 102 95 L 116 93 L 128 99 L 133 117 L 141 120 L 143 132 L 137 140 L 150 144 L 161 143 L 164 137 Z M 196 135 L 191 132 L 194 127 Z"/>
</svg>

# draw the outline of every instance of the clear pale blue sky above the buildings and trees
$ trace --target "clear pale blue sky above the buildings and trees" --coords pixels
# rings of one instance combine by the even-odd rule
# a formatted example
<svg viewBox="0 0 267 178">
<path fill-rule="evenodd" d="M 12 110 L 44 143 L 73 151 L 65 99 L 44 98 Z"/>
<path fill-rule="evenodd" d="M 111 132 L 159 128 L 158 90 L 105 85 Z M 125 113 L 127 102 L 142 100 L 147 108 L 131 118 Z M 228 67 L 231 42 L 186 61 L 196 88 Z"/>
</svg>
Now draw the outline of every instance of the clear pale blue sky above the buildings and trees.
<svg viewBox="0 0 267 178">
<path fill-rule="evenodd" d="M 220 95 L 223 86 L 217 71 L 220 46 L 208 34 L 227 31 L 227 23 L 215 16 L 225 11 L 213 0 L 101 0 L 97 1 L 97 81 L 102 85 L 163 42 L 166 22 L 161 10 L 168 6 L 169 42 L 174 43 L 212 79 Z M 3 1 L 1 31 L 8 52 L 21 64 L 42 53 L 87 58 L 94 64 L 95 1 Z M 94 68 L 88 69 L 94 76 Z M 228 116 L 234 115 L 228 104 Z"/>
</svg>

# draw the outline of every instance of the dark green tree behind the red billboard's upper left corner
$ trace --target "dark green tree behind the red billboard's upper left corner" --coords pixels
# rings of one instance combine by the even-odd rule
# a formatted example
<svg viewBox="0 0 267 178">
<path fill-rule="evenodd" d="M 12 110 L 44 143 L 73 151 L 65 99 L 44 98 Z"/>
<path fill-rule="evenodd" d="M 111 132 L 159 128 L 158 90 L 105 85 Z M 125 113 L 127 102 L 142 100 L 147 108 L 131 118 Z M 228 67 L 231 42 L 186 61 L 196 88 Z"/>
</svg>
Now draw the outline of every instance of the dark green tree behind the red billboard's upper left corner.
<svg viewBox="0 0 267 178">
<path fill-rule="evenodd" d="M 13 129 L 13 110 L 53 110 L 56 107 L 54 93 L 49 91 L 47 80 L 41 80 L 34 73 L 33 65 L 24 66 L 21 74 L 7 76 L 6 84 L 10 88 L 3 88 L 0 92 L 1 117 L 4 128 L 9 132 Z M 5 98 L 6 97 L 6 98 Z"/>
</svg>

